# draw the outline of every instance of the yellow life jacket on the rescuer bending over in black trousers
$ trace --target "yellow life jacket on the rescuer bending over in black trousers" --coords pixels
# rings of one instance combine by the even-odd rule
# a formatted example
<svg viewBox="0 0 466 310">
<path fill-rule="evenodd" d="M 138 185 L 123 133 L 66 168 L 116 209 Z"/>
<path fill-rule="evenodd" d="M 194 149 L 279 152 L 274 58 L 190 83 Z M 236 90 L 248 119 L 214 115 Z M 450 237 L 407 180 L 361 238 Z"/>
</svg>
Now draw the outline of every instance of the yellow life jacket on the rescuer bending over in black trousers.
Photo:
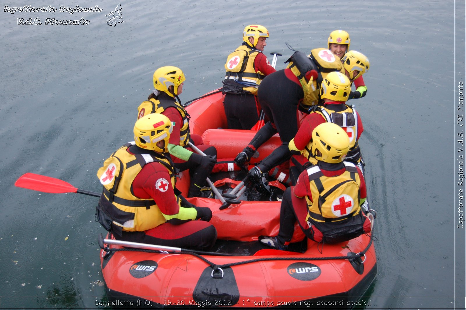
<svg viewBox="0 0 466 310">
<path fill-rule="evenodd" d="M 311 107 L 319 103 L 320 86 L 325 76 L 332 71 L 341 72 L 344 68 L 341 60 L 333 55 L 333 53 L 327 48 L 314 48 L 311 50 L 311 54 L 308 55 L 308 58 L 317 66 L 318 77 L 316 80 L 311 77 L 308 81 L 304 76 L 306 72 L 300 72 L 298 69 L 299 66 L 297 66 L 293 61 L 289 62 L 287 68 L 293 72 L 301 83 L 302 90 L 304 92 L 301 104 Z"/>
</svg>

